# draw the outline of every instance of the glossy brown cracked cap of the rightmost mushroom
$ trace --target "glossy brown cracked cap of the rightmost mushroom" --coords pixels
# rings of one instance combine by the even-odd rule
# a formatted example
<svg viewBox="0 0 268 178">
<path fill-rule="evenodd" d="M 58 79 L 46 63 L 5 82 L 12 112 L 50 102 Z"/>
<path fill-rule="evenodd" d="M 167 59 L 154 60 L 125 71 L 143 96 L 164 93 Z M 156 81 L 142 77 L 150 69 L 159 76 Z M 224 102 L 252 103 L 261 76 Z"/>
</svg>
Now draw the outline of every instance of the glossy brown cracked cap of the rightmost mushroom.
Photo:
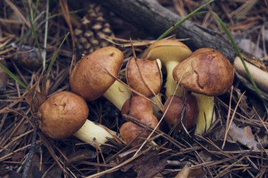
<svg viewBox="0 0 268 178">
<path fill-rule="evenodd" d="M 233 84 L 233 65 L 215 49 L 198 49 L 173 70 L 180 85 L 197 94 L 217 96 Z M 182 78 L 182 79 L 181 79 Z"/>
</svg>

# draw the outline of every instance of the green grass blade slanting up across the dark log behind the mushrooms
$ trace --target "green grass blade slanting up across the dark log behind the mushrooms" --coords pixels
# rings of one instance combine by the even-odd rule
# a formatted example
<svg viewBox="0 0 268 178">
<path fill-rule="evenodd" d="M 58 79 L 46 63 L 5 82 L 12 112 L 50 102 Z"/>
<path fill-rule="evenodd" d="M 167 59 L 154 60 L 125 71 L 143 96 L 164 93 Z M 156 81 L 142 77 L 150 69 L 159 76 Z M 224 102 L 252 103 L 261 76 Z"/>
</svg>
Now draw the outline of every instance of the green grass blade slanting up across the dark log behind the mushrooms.
<svg viewBox="0 0 268 178">
<path fill-rule="evenodd" d="M 161 34 L 160 37 L 158 37 L 157 40 L 159 39 L 163 39 L 164 37 L 166 37 L 166 35 L 170 34 L 171 32 L 173 32 L 173 30 L 175 30 L 178 26 L 180 26 L 182 23 L 185 22 L 185 20 L 188 20 L 189 18 L 193 17 L 193 15 L 195 15 L 198 11 L 200 11 L 202 8 L 204 8 L 205 6 L 207 6 L 208 4 L 211 4 L 212 2 L 214 2 L 215 0 L 210 0 L 207 1 L 205 4 L 203 4 L 202 6 L 200 6 L 199 8 L 195 9 L 195 11 L 189 13 L 188 15 L 186 15 L 184 18 L 182 18 L 181 20 L 179 20 L 177 23 L 175 23 L 172 27 L 170 27 L 168 30 L 166 30 L 166 32 L 164 32 L 163 34 Z"/>
</svg>

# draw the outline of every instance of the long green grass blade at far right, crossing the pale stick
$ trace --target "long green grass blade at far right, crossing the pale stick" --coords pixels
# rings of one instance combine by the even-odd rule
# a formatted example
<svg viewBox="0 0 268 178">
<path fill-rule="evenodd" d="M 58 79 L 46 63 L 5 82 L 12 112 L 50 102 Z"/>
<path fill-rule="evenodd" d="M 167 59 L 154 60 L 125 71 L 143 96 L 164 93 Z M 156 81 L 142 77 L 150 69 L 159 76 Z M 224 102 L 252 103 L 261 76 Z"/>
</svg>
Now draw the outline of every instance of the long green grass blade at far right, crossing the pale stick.
<svg viewBox="0 0 268 178">
<path fill-rule="evenodd" d="M 248 70 L 248 66 L 245 64 L 244 58 L 238 48 L 238 46 L 236 45 L 236 42 L 233 39 L 233 36 L 231 35 L 230 31 L 228 30 L 228 28 L 226 27 L 225 23 L 221 20 L 221 18 L 219 17 L 219 15 L 217 15 L 217 13 L 212 12 L 212 14 L 214 15 L 214 17 L 216 18 L 216 20 L 219 22 L 219 24 L 221 25 L 221 29 L 224 30 L 224 32 L 226 33 L 227 37 L 229 38 L 229 40 L 231 41 L 231 44 L 233 46 L 233 48 L 236 50 L 236 53 L 238 54 L 238 57 L 240 58 L 241 62 L 243 63 L 243 66 L 245 68 L 245 72 L 247 72 L 248 75 L 248 79 L 250 80 L 252 86 L 255 89 L 255 92 L 258 96 L 260 96 L 260 98 L 263 100 L 262 98 L 262 94 L 260 93 L 260 90 L 257 87 L 257 84 L 255 83 L 255 80 L 253 79 L 250 70 Z M 265 104 L 267 104 L 264 101 Z"/>
</svg>

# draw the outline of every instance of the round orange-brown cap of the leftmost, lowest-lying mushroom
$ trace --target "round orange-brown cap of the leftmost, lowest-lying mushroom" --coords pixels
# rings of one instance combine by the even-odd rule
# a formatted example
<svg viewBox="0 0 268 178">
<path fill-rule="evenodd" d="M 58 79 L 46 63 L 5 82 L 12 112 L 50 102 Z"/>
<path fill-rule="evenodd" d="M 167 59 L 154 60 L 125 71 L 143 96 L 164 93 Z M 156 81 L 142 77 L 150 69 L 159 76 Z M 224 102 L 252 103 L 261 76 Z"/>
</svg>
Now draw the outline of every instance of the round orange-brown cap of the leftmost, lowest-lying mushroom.
<svg viewBox="0 0 268 178">
<path fill-rule="evenodd" d="M 53 139 L 64 139 L 80 129 L 88 116 L 87 103 L 80 96 L 61 91 L 39 107 L 39 127 Z"/>
</svg>

